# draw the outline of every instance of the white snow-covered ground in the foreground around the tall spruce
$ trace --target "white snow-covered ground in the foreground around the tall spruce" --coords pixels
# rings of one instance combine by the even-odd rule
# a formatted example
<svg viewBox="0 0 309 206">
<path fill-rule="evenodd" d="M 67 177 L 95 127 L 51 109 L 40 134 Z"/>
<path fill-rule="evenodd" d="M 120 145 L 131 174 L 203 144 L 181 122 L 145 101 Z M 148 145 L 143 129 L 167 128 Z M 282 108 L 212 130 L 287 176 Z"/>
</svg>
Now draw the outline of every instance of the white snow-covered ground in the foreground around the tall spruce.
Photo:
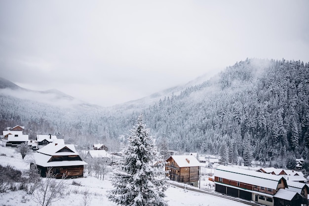
<svg viewBox="0 0 309 206">
<path fill-rule="evenodd" d="M 0 156 L 0 165 L 6 166 L 11 165 L 16 169 L 27 170 L 29 164 L 27 159 L 30 156 L 26 156 L 25 160 L 22 160 L 20 154 L 14 153 L 14 149 L 0 147 L 0 154 L 6 154 L 6 156 Z M 95 177 L 84 177 L 78 179 L 67 179 L 65 184 L 69 186 L 71 192 L 64 199 L 52 203 L 52 206 L 80 206 L 82 203 L 82 191 L 87 189 L 91 193 L 91 206 L 116 206 L 115 203 L 108 201 L 106 194 L 107 191 L 113 188 L 109 177 L 112 174 L 106 176 L 103 180 L 99 180 Z M 57 180 L 60 181 L 60 180 Z M 81 186 L 72 185 L 72 182 L 78 182 Z M 207 185 L 207 180 L 201 183 L 201 185 Z M 169 206 L 245 206 L 238 202 L 231 200 L 196 193 L 182 188 L 176 188 L 170 186 L 166 193 L 165 198 Z M 38 204 L 34 201 L 32 195 L 27 195 L 25 191 L 8 191 L 6 193 L 0 193 L 0 206 L 37 206 Z"/>
</svg>

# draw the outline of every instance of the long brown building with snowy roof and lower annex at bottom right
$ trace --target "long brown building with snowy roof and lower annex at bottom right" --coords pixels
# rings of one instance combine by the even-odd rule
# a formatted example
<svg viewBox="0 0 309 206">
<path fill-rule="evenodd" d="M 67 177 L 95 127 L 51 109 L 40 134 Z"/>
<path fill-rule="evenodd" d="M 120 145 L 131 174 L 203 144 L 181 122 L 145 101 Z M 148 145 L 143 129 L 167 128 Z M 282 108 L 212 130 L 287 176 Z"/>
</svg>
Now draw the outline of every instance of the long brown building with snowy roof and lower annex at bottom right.
<svg viewBox="0 0 309 206">
<path fill-rule="evenodd" d="M 288 183 L 282 176 L 220 165 L 214 177 L 215 190 L 226 195 L 267 206 L 307 204 L 301 193 L 288 190 Z"/>
</svg>

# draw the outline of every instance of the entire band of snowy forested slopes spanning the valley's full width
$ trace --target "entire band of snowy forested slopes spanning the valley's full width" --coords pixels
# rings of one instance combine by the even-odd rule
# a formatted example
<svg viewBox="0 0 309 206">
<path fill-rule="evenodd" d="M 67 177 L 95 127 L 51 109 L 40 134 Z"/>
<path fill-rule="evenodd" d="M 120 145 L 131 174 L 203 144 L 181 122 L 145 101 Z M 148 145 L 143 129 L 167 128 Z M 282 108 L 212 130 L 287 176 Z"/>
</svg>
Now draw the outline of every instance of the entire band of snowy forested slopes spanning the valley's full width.
<svg viewBox="0 0 309 206">
<path fill-rule="evenodd" d="M 237 156 L 309 158 L 309 64 L 301 61 L 247 59 L 147 109 L 123 108 L 59 108 L 0 94 L 0 126 L 119 149 L 116 142 L 143 113 L 157 143 L 172 150 L 225 155 L 231 163 Z"/>
</svg>

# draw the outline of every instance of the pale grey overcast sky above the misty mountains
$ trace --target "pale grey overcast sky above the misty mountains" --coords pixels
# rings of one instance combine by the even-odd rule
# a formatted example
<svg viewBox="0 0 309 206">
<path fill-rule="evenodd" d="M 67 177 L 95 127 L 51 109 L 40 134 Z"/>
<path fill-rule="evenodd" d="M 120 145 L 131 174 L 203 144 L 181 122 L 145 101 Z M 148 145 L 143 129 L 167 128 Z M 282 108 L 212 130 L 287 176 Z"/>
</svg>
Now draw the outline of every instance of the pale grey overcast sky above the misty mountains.
<svg viewBox="0 0 309 206">
<path fill-rule="evenodd" d="M 0 76 L 110 106 L 246 58 L 309 62 L 308 0 L 0 0 Z"/>
</svg>

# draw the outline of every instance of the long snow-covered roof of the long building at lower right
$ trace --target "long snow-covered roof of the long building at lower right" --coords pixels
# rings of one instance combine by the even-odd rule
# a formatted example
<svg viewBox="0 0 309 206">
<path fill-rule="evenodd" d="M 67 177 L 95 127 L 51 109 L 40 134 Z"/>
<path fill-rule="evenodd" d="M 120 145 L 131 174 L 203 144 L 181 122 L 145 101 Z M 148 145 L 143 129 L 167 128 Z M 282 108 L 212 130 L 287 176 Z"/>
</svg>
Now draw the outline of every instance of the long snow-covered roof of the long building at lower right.
<svg viewBox="0 0 309 206">
<path fill-rule="evenodd" d="M 283 178 L 268 173 L 224 165 L 220 165 L 216 168 L 215 176 L 274 190 L 277 189 L 278 181 Z"/>
</svg>

